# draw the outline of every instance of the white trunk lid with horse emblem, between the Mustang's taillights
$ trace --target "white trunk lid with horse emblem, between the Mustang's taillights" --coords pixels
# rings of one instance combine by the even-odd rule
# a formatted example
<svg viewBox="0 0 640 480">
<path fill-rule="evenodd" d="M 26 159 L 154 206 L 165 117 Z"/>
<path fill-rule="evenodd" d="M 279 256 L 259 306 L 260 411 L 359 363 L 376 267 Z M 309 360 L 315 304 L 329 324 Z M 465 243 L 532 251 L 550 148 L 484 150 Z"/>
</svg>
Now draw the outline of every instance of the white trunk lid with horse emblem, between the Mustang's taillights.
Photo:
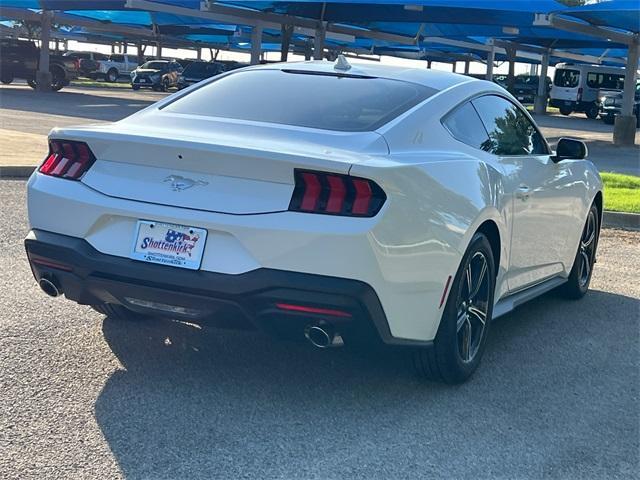
<svg viewBox="0 0 640 480">
<path fill-rule="evenodd" d="M 347 174 L 354 163 L 388 153 L 375 132 L 158 111 L 50 136 L 87 142 L 97 161 L 82 182 L 105 195 L 239 215 L 287 210 L 295 168 Z"/>
</svg>

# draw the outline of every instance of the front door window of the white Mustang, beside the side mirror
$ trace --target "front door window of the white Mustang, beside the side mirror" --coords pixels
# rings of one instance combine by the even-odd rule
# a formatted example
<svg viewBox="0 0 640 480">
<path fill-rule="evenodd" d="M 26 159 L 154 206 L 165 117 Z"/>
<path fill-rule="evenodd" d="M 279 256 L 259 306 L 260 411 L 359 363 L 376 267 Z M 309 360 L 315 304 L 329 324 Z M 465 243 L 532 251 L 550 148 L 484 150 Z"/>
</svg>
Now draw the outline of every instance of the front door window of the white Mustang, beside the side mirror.
<svg viewBox="0 0 640 480">
<path fill-rule="evenodd" d="M 509 100 L 497 95 L 486 95 L 471 103 L 489 134 L 482 150 L 500 156 L 549 153 L 547 144 L 535 125 Z"/>
</svg>

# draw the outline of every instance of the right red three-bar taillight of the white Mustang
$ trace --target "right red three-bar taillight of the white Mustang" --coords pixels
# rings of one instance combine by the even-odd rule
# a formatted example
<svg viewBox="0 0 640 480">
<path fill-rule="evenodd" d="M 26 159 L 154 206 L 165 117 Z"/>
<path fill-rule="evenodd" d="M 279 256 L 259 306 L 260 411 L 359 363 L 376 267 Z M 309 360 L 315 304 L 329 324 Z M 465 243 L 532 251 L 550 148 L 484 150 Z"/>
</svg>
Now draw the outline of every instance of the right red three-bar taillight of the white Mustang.
<svg viewBox="0 0 640 480">
<path fill-rule="evenodd" d="M 353 217 L 373 217 L 387 199 L 382 189 L 366 178 L 337 173 L 295 170 L 296 187 L 289 210 Z"/>
</svg>

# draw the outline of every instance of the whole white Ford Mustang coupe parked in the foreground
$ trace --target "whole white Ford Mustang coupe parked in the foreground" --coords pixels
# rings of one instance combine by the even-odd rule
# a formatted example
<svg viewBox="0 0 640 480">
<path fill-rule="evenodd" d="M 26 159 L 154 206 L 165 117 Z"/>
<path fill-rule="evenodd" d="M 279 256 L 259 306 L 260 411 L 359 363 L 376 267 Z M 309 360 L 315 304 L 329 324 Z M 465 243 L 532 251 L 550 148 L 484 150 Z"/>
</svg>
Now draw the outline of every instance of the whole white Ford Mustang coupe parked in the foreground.
<svg viewBox="0 0 640 480">
<path fill-rule="evenodd" d="M 499 86 L 329 62 L 248 67 L 57 128 L 28 185 L 36 280 L 118 318 L 408 347 L 462 382 L 490 320 L 589 286 L 602 183 Z M 227 320 L 228 322 L 228 320 Z"/>
</svg>

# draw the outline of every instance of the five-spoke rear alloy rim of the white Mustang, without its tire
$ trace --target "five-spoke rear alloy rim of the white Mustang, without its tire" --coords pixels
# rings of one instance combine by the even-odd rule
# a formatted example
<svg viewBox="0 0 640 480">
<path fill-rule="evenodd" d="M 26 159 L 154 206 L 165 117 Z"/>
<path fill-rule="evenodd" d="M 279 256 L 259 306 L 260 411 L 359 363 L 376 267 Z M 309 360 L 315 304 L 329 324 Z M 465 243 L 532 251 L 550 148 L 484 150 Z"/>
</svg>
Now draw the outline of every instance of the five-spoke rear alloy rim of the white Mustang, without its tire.
<svg viewBox="0 0 640 480">
<path fill-rule="evenodd" d="M 460 359 L 471 362 L 484 336 L 489 311 L 489 264 L 482 252 L 475 252 L 464 270 L 457 301 L 456 336 Z"/>
</svg>

